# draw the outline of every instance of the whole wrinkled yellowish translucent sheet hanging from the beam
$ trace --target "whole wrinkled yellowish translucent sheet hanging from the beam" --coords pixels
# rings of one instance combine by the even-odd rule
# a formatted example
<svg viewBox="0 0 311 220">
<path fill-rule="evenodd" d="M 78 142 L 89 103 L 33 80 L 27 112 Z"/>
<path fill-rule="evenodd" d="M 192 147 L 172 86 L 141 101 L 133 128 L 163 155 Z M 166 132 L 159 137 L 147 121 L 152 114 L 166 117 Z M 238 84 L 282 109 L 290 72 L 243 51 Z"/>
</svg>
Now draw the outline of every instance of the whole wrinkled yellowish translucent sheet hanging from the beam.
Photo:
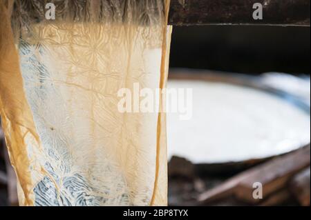
<svg viewBox="0 0 311 220">
<path fill-rule="evenodd" d="M 0 114 L 19 203 L 166 205 L 165 115 L 121 113 L 117 91 L 166 86 L 169 1 L 51 2 L 55 21 L 43 0 L 0 3 Z"/>
</svg>

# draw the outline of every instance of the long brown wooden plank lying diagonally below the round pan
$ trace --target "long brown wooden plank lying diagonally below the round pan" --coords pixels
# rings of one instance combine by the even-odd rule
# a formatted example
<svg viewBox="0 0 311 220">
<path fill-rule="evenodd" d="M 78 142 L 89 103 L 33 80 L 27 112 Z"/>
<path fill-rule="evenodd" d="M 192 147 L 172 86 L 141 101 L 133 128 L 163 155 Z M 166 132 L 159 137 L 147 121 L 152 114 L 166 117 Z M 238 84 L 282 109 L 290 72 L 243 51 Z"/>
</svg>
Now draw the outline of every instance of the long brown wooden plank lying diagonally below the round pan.
<svg viewBox="0 0 311 220">
<path fill-rule="evenodd" d="M 310 166 L 310 146 L 285 154 L 249 169 L 220 186 L 200 195 L 201 203 L 208 203 L 234 195 L 249 203 L 259 203 L 273 192 L 285 188 L 294 174 Z M 254 183 L 263 185 L 263 199 L 254 199 Z"/>
</svg>

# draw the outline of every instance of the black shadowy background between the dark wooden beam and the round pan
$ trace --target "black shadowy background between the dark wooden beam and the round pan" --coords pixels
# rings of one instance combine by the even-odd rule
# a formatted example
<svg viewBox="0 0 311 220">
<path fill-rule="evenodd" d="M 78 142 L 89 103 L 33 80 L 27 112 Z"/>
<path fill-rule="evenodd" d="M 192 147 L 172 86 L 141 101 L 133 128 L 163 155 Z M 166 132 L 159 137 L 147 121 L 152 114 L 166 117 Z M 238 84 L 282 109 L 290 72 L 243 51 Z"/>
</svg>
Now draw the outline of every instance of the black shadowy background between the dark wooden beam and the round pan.
<svg viewBox="0 0 311 220">
<path fill-rule="evenodd" d="M 171 68 L 310 74 L 310 28 L 174 26 Z"/>
</svg>

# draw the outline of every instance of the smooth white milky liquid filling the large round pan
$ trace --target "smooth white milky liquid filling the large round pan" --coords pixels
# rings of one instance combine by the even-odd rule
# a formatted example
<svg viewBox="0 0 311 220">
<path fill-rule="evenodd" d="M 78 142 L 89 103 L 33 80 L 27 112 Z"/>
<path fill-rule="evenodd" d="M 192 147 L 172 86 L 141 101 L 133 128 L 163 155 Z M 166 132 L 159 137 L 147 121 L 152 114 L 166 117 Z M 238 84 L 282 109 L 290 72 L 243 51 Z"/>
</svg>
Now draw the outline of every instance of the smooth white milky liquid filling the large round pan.
<svg viewBox="0 0 311 220">
<path fill-rule="evenodd" d="M 270 157 L 310 143 L 310 115 L 274 95 L 206 81 L 169 80 L 193 88 L 193 117 L 167 115 L 169 157 L 223 163 Z"/>
</svg>

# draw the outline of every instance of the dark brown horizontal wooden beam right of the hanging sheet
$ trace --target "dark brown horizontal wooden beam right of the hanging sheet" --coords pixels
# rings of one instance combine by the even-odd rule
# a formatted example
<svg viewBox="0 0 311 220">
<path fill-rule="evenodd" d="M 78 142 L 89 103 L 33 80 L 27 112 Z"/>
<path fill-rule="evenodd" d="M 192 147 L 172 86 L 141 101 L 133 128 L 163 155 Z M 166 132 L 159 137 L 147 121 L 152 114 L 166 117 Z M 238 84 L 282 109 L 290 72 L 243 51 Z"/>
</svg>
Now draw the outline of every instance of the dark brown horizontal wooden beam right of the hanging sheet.
<svg viewBox="0 0 311 220">
<path fill-rule="evenodd" d="M 263 19 L 253 19 L 262 3 Z M 169 24 L 310 26 L 310 0 L 171 0 Z"/>
</svg>

